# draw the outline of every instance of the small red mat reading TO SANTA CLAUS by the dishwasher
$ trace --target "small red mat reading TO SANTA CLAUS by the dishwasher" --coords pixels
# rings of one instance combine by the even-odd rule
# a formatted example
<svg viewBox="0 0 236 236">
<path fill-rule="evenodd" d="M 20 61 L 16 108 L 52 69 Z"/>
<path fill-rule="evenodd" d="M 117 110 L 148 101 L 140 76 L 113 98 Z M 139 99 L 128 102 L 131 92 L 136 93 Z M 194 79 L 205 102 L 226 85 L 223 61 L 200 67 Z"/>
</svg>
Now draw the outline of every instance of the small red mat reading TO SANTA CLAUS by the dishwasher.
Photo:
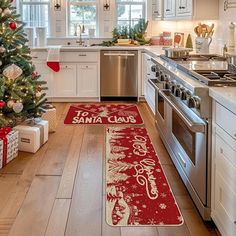
<svg viewBox="0 0 236 236">
<path fill-rule="evenodd" d="M 65 124 L 143 124 L 133 104 L 84 104 L 71 106 Z"/>
</svg>

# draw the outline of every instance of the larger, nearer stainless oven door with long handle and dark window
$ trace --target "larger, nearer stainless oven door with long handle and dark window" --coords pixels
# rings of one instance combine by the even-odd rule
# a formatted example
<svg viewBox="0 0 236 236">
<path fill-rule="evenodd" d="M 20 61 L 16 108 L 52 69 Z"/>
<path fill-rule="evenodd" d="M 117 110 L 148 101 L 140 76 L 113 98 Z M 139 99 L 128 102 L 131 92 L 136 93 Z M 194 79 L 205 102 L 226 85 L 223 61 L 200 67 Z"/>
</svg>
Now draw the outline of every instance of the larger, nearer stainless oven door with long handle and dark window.
<svg viewBox="0 0 236 236">
<path fill-rule="evenodd" d="M 207 204 L 207 123 L 169 90 L 159 91 L 167 104 L 169 145 L 204 205 Z"/>
</svg>

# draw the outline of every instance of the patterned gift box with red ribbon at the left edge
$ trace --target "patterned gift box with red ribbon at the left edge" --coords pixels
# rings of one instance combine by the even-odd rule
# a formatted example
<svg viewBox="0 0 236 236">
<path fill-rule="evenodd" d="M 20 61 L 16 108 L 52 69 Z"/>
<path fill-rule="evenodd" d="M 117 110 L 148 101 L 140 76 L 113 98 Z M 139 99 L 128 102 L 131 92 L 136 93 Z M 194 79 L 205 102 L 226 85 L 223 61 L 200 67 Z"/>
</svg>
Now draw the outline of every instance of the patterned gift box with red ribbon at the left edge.
<svg viewBox="0 0 236 236">
<path fill-rule="evenodd" d="M 8 129 L 5 134 L 2 130 Z M 0 169 L 18 156 L 18 131 L 0 129 Z"/>
</svg>

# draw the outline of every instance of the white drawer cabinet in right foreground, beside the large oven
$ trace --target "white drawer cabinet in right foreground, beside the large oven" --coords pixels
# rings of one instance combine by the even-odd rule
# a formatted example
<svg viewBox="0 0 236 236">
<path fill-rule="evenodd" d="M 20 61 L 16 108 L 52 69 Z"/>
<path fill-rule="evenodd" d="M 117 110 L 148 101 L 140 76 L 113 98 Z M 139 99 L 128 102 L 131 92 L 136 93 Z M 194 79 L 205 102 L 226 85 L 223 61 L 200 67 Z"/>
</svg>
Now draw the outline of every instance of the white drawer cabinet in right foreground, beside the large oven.
<svg viewBox="0 0 236 236">
<path fill-rule="evenodd" d="M 222 235 L 236 235 L 236 114 L 213 102 L 212 219 Z"/>
</svg>

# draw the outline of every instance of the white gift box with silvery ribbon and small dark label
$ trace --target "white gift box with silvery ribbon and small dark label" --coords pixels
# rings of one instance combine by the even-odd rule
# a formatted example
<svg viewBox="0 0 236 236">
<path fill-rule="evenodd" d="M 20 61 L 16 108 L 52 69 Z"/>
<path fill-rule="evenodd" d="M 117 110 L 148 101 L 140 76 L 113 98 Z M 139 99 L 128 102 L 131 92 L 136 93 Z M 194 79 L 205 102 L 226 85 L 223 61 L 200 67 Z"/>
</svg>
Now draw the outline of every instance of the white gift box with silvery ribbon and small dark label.
<svg viewBox="0 0 236 236">
<path fill-rule="evenodd" d="M 19 150 L 35 153 L 48 141 L 48 121 L 17 125 L 14 130 L 19 131 Z"/>
</svg>

